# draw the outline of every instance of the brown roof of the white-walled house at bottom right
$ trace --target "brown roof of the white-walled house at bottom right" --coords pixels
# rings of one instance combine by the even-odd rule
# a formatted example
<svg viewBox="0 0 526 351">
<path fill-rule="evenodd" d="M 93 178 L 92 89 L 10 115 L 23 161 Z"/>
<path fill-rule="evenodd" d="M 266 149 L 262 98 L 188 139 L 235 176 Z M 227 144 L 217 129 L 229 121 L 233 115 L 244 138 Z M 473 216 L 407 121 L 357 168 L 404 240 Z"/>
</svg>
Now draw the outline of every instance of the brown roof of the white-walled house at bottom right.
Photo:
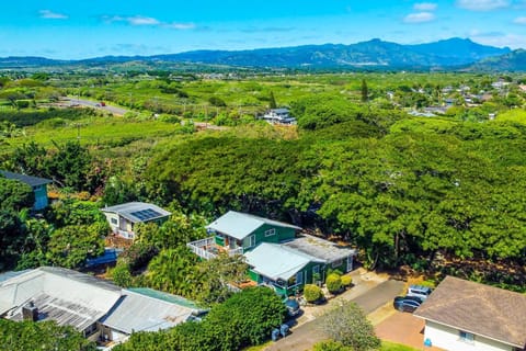
<svg viewBox="0 0 526 351">
<path fill-rule="evenodd" d="M 426 320 L 526 347 L 526 295 L 446 276 L 414 312 Z"/>
</svg>

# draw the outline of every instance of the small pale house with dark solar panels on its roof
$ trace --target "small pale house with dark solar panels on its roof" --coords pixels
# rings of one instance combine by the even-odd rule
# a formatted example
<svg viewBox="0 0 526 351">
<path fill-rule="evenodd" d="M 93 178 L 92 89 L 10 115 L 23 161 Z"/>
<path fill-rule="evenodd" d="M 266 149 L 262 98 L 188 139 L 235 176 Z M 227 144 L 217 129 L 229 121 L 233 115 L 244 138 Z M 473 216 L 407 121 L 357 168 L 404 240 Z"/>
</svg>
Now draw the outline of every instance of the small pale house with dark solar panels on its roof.
<svg viewBox="0 0 526 351">
<path fill-rule="evenodd" d="M 126 239 L 135 239 L 135 226 L 138 223 L 163 223 L 171 213 L 153 204 L 128 202 L 101 208 L 112 231 Z"/>
</svg>

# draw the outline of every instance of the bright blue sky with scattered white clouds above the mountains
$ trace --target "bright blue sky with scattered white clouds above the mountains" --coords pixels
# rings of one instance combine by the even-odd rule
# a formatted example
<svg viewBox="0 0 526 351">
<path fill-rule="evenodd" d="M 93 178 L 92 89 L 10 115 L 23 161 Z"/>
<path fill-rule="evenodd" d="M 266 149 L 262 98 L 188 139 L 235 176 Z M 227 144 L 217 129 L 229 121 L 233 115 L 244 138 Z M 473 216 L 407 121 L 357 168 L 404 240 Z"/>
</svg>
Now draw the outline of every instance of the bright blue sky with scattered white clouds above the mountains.
<svg viewBox="0 0 526 351">
<path fill-rule="evenodd" d="M 453 36 L 526 48 L 526 0 L 25 0 L 0 11 L 0 56 L 401 44 Z"/>
</svg>

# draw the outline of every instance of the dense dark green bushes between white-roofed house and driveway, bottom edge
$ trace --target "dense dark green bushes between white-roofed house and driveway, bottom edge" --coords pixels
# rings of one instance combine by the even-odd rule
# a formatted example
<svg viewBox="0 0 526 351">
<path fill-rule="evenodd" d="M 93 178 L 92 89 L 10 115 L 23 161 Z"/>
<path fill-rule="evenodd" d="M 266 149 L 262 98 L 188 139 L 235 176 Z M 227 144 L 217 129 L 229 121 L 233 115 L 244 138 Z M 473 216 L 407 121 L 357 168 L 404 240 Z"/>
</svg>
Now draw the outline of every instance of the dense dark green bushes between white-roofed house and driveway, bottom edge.
<svg viewBox="0 0 526 351">
<path fill-rule="evenodd" d="M 188 321 L 168 331 L 137 332 L 115 351 L 241 350 L 268 339 L 286 309 L 268 287 L 251 287 L 214 306 L 203 321 Z"/>
</svg>

